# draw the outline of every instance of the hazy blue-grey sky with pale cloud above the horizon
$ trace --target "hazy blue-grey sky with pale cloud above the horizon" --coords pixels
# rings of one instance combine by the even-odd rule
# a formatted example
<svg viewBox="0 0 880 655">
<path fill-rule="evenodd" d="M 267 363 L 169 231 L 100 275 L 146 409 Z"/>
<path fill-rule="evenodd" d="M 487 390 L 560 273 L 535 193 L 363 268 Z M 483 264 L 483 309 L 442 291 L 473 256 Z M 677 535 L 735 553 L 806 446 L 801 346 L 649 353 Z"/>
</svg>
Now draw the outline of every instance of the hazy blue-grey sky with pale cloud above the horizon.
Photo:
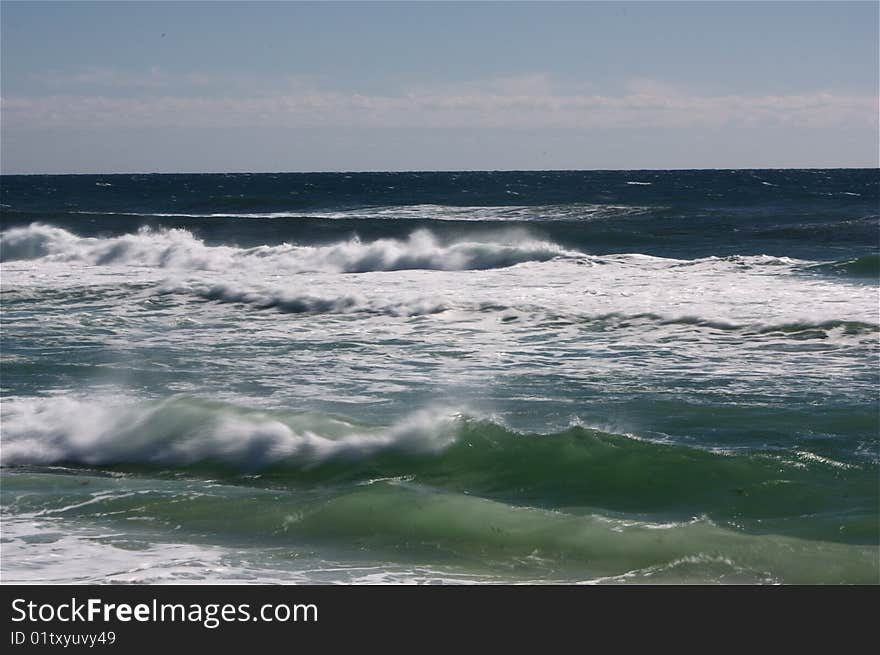
<svg viewBox="0 0 880 655">
<path fill-rule="evenodd" d="M 878 166 L 877 2 L 0 2 L 0 171 Z"/>
</svg>

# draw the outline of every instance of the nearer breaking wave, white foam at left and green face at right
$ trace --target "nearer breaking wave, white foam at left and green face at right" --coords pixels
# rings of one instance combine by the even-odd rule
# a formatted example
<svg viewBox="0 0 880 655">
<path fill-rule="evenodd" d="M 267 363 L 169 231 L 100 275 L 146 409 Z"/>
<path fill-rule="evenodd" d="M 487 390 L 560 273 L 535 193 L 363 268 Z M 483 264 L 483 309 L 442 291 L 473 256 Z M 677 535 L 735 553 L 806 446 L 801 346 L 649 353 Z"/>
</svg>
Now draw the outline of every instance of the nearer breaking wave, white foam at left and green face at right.
<svg viewBox="0 0 880 655">
<path fill-rule="evenodd" d="M 0 455 L 7 467 L 75 465 L 247 481 L 259 475 L 261 484 L 303 489 L 406 478 L 516 503 L 681 516 L 757 519 L 844 506 L 877 512 L 873 463 L 797 448 L 713 452 L 579 426 L 520 433 L 441 409 L 370 426 L 190 397 L 116 406 L 17 399 L 5 403 Z"/>
</svg>

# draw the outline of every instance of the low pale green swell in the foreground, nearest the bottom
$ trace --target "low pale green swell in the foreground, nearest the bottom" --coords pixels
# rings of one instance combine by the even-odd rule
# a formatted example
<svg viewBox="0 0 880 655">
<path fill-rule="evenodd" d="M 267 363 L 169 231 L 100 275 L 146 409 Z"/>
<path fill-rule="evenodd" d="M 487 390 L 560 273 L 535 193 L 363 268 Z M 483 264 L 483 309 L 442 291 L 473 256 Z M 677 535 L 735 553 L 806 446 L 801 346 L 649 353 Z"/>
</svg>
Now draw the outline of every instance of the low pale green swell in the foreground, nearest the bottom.
<svg viewBox="0 0 880 655">
<path fill-rule="evenodd" d="M 174 530 L 177 539 L 393 553 L 396 561 L 464 562 L 544 579 L 555 572 L 569 581 L 679 579 L 688 570 L 700 581 L 876 583 L 878 576 L 875 546 L 751 534 L 705 518 L 658 523 L 515 507 L 411 482 L 318 495 L 32 473 L 4 481 L 7 515 L 118 524 L 127 534 Z"/>
</svg>

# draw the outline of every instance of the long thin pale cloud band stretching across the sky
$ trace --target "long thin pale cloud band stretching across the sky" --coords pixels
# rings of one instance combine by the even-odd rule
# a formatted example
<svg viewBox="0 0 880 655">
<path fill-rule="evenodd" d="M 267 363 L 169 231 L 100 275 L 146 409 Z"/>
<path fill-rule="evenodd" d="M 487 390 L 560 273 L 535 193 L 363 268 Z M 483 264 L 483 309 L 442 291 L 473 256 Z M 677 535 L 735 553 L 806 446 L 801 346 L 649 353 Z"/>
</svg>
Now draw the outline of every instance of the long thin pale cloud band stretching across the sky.
<svg viewBox="0 0 880 655">
<path fill-rule="evenodd" d="M 161 79 L 156 71 L 156 80 Z M 104 73 L 92 71 L 92 78 Z M 116 79 L 115 73 L 107 79 Z M 133 80 L 129 80 L 134 83 Z M 144 82 L 144 80 L 141 80 Z M 142 84 L 142 86 L 144 86 Z M 156 86 L 155 88 L 161 88 Z M 140 127 L 876 128 L 876 96 L 700 95 L 649 80 L 618 95 L 564 93 L 542 75 L 422 87 L 398 95 L 288 87 L 250 97 L 54 94 L 2 98 L 8 129 Z"/>
</svg>

